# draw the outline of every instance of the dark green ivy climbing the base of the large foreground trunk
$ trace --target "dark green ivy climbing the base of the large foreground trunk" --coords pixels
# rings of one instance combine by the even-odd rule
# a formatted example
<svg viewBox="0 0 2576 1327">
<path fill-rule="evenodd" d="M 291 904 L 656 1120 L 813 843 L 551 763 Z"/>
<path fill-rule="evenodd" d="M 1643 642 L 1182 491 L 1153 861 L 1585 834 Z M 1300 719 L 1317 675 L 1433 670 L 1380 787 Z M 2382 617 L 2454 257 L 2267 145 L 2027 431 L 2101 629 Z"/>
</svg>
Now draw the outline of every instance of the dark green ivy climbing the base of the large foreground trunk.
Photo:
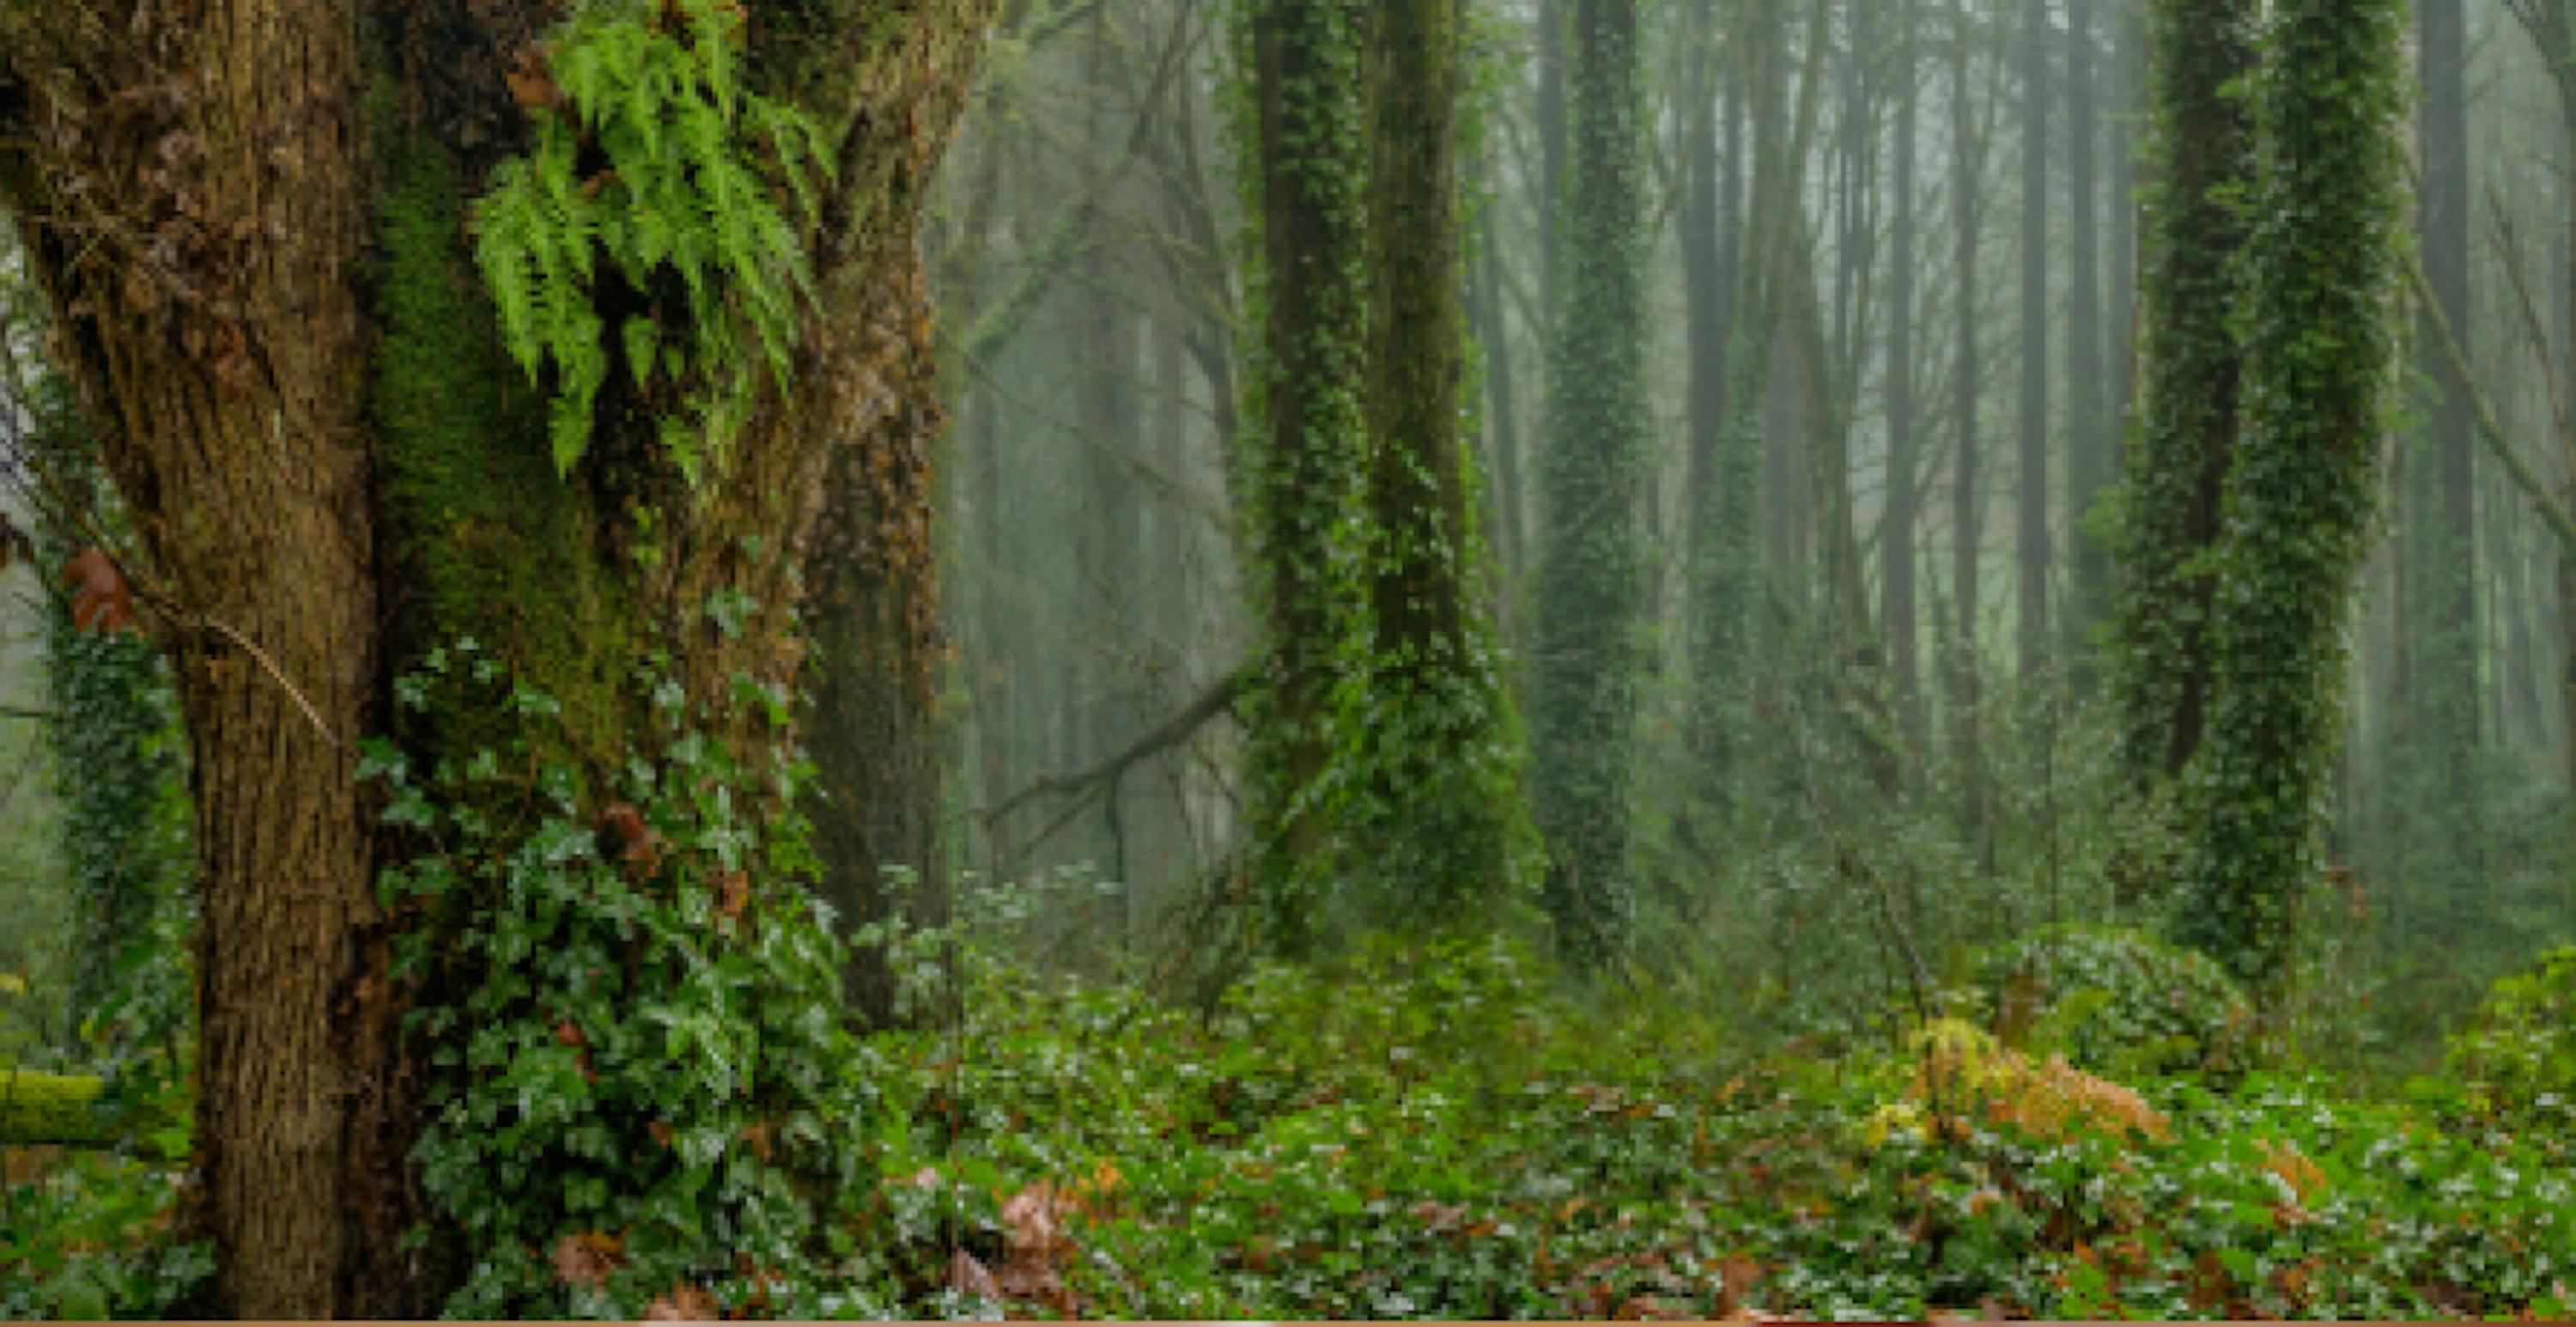
<svg viewBox="0 0 2576 1327">
<path fill-rule="evenodd" d="M 410 1033 L 433 1046 L 412 1157 L 433 1239 L 471 1268 L 448 1312 L 639 1317 L 675 1286 L 786 1317 L 871 1309 L 837 1221 L 889 1116 L 837 1015 L 842 948 L 799 884 L 801 827 L 750 819 L 796 788 L 755 786 L 677 685 L 641 685 L 649 732 L 598 796 L 541 755 L 559 706 L 469 642 L 399 701 L 515 714 L 518 734 L 425 770 L 366 750 L 384 822 L 417 848 L 379 892 L 407 920 L 394 974 L 425 992 Z"/>
</svg>

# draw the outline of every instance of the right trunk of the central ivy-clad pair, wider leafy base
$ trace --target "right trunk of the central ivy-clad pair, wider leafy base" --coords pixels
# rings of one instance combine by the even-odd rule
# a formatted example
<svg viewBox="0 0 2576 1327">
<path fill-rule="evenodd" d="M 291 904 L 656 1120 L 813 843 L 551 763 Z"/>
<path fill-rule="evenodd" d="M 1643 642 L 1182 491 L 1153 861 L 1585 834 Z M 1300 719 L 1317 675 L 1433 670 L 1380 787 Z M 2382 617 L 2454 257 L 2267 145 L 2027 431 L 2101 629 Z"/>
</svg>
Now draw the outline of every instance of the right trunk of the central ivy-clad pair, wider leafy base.
<svg viewBox="0 0 2576 1327">
<path fill-rule="evenodd" d="M 1370 13 L 1368 621 L 1360 835 L 1391 915 L 1489 922 L 1530 848 L 1468 466 L 1461 0 Z"/>
</svg>

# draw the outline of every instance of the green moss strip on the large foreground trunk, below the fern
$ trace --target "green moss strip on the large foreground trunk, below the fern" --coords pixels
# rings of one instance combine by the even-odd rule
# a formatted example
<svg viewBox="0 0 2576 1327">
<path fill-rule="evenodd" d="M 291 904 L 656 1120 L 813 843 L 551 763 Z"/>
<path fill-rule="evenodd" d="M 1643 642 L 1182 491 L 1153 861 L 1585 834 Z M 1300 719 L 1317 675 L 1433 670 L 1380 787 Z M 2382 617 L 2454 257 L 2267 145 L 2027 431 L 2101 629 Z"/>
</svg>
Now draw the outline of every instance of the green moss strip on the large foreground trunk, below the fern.
<svg viewBox="0 0 2576 1327">
<path fill-rule="evenodd" d="M 489 301 L 464 258 L 464 193 L 451 157 L 384 131 L 389 188 L 379 214 L 374 412 L 384 433 L 397 667 L 471 636 L 564 703 L 567 732 L 595 752 L 623 727 L 631 631 L 585 531 L 587 495 L 554 472 L 544 399 L 510 392 Z M 438 742 L 474 750 L 482 724 L 440 716 Z"/>
</svg>

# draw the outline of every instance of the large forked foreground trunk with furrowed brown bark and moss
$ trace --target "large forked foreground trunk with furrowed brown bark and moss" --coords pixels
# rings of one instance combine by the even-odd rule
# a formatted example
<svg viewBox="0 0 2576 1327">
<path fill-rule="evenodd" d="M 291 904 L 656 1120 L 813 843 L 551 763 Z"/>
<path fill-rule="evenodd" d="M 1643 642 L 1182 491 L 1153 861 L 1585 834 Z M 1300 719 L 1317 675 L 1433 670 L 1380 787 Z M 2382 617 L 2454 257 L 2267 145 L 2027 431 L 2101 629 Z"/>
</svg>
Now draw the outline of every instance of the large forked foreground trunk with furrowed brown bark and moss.
<svg viewBox="0 0 2576 1327">
<path fill-rule="evenodd" d="M 546 317 L 608 322 L 587 348 L 559 338 L 556 356 L 621 368 L 598 399 L 559 397 L 574 405 L 549 428 L 466 260 L 469 196 L 564 113 L 572 75 L 549 70 L 564 10 L 0 8 L 0 204 L 139 531 L 118 557 L 173 657 L 191 742 L 204 881 L 191 1224 L 216 1247 L 209 1312 L 425 1317 L 464 1273 L 402 1239 L 417 1216 L 453 1211 L 417 1206 L 428 1044 L 402 1041 L 399 1020 L 407 1000 L 456 989 L 389 979 L 389 940 L 440 922 L 379 907 L 392 840 L 371 822 L 358 752 L 399 727 L 428 768 L 533 721 L 492 701 L 397 724 L 381 703 L 392 673 L 477 636 L 554 696 L 559 732 L 541 745 L 605 788 L 641 755 L 631 729 L 654 683 L 634 665 L 657 647 L 716 742 L 760 768 L 768 716 L 747 696 L 793 680 L 788 613 L 822 479 L 853 443 L 920 438 L 886 425 L 927 392 L 889 371 L 889 348 L 917 338 L 909 209 L 989 5 L 747 10 L 732 33 L 706 5 L 572 10 L 672 36 L 667 21 L 706 59 L 719 59 L 706 44 L 742 41 L 744 82 L 811 116 L 832 152 L 835 188 L 791 240 L 811 296 L 786 327 L 788 371 L 773 379 L 786 387 L 752 387 L 690 474 L 685 425 L 680 446 L 662 428 L 690 410 L 623 376 L 629 356 L 647 358 L 634 325 L 613 340 L 670 289 L 603 278 L 549 304 Z M 618 186 L 598 186 L 582 204 L 613 206 Z M 564 363 L 549 381 L 569 381 Z M 590 441 L 559 472 L 567 425 Z M 876 518 L 917 528 L 904 510 Z M 492 977 L 446 974 L 471 989 Z M 479 1252 L 518 1257 L 451 1245 Z"/>
</svg>

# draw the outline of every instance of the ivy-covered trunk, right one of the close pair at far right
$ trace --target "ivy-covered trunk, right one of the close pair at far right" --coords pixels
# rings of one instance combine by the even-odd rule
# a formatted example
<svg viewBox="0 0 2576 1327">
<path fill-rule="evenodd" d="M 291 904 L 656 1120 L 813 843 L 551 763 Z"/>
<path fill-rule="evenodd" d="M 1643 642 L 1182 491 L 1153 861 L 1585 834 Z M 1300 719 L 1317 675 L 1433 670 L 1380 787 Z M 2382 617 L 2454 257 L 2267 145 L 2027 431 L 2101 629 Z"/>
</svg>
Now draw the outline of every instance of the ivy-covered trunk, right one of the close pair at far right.
<svg viewBox="0 0 2576 1327">
<path fill-rule="evenodd" d="M 2352 580 L 2401 335 L 2403 0 L 2277 0 L 2254 90 L 2246 446 L 2218 541 L 2182 935 L 2277 1002 L 2321 874 Z"/>
</svg>

